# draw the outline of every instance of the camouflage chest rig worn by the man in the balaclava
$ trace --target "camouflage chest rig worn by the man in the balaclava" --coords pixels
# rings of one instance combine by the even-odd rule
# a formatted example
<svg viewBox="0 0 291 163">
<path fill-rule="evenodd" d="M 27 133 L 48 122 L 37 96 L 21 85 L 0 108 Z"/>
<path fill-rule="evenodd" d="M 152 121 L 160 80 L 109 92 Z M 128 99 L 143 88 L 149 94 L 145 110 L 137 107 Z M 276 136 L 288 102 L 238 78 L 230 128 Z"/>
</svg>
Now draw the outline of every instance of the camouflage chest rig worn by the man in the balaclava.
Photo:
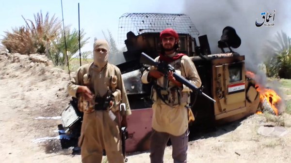
<svg viewBox="0 0 291 163">
<path fill-rule="evenodd" d="M 87 67 L 87 74 L 83 75 L 83 85 L 87 86 L 92 92 L 94 92 L 94 79 L 93 70 L 91 66 Z M 104 76 L 100 76 L 104 77 Z M 110 76 L 105 76 L 108 81 L 106 81 L 107 92 L 100 96 L 95 94 L 92 101 L 86 101 L 83 96 L 79 97 L 78 108 L 82 112 L 93 112 L 95 110 L 112 110 L 113 112 L 119 111 L 119 104 L 121 103 L 121 91 L 117 88 L 117 76 L 113 73 Z"/>
</svg>

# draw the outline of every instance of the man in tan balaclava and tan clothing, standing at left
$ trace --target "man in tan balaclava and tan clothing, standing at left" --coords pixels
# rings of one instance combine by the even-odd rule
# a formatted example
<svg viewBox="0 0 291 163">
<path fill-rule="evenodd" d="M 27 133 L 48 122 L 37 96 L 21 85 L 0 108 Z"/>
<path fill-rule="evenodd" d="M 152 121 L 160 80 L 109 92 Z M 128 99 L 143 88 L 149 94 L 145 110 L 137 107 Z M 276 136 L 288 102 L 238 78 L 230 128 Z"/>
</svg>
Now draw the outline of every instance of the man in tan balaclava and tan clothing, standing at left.
<svg viewBox="0 0 291 163">
<path fill-rule="evenodd" d="M 101 163 L 103 149 L 109 163 L 124 163 L 119 129 L 131 114 L 126 90 L 120 70 L 108 63 L 108 43 L 97 40 L 93 54 L 94 62 L 81 66 L 67 88 L 84 112 L 78 142 L 82 163 Z M 121 103 L 126 107 L 120 111 Z"/>
</svg>

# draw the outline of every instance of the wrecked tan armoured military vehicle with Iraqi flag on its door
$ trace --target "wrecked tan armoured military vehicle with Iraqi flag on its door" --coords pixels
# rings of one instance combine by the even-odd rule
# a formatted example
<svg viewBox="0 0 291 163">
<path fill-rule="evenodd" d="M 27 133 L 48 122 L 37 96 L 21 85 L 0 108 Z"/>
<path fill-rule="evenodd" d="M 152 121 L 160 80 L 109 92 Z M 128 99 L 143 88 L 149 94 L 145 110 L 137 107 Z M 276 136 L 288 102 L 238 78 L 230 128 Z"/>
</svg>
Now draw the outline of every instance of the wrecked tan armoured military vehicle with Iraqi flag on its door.
<svg viewBox="0 0 291 163">
<path fill-rule="evenodd" d="M 179 35 L 179 51 L 193 60 L 202 80 L 202 91 L 216 100 L 208 101 L 197 92 L 191 96 L 195 121 L 189 126 L 190 137 L 197 130 L 242 119 L 256 113 L 259 92 L 255 81 L 245 75 L 244 55 L 234 52 L 241 39 L 227 26 L 218 41 L 221 53 L 211 54 L 207 35 L 199 36 L 189 16 L 184 14 L 127 13 L 120 17 L 118 41 L 123 40 L 127 51 L 125 62 L 117 65 L 123 76 L 132 115 L 128 116 L 127 153 L 149 149 L 152 102 L 151 84 L 142 84 L 141 75 L 146 65 L 140 63 L 141 53 L 156 58 L 161 52 L 159 35 L 166 28 L 173 28 Z M 199 41 L 196 42 L 196 39 Z M 213 43 L 216 44 L 216 43 Z M 229 51 L 225 52 L 225 48 Z M 65 133 L 78 138 L 81 113 L 76 101 L 62 112 Z"/>
</svg>

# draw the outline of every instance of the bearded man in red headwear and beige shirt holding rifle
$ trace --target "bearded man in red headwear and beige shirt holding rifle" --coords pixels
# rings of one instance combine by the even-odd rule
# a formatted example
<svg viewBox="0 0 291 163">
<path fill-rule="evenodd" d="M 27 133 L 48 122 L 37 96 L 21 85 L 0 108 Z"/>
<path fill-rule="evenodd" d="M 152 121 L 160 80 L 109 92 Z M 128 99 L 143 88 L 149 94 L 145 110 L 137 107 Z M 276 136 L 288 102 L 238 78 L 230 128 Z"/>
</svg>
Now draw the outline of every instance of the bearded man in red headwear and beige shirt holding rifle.
<svg viewBox="0 0 291 163">
<path fill-rule="evenodd" d="M 156 61 L 171 64 L 176 73 L 190 80 L 198 88 L 201 80 L 193 61 L 185 54 L 178 53 L 178 33 L 165 29 L 160 33 L 162 53 Z M 166 77 L 167 76 L 167 77 Z M 151 163 L 163 163 L 166 144 L 171 139 L 174 163 L 187 162 L 188 112 L 190 89 L 178 82 L 173 72 L 163 75 L 156 67 L 149 67 L 141 77 L 144 84 L 154 80 L 152 95 L 153 118 L 150 143 Z"/>
</svg>

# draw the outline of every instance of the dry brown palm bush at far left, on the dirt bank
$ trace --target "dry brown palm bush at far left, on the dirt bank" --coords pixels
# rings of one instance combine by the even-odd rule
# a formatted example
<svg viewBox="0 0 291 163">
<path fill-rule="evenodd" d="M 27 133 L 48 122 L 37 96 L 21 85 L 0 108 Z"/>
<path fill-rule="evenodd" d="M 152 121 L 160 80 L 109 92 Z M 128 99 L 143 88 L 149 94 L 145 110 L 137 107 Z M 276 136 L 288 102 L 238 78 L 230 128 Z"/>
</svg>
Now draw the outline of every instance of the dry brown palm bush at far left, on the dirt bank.
<svg viewBox="0 0 291 163">
<path fill-rule="evenodd" d="M 45 53 L 46 47 L 52 44 L 61 30 L 61 21 L 54 15 L 49 19 L 49 13 L 43 18 L 41 11 L 34 15 L 34 22 L 22 18 L 26 26 L 6 31 L 2 44 L 10 53 Z"/>
</svg>

